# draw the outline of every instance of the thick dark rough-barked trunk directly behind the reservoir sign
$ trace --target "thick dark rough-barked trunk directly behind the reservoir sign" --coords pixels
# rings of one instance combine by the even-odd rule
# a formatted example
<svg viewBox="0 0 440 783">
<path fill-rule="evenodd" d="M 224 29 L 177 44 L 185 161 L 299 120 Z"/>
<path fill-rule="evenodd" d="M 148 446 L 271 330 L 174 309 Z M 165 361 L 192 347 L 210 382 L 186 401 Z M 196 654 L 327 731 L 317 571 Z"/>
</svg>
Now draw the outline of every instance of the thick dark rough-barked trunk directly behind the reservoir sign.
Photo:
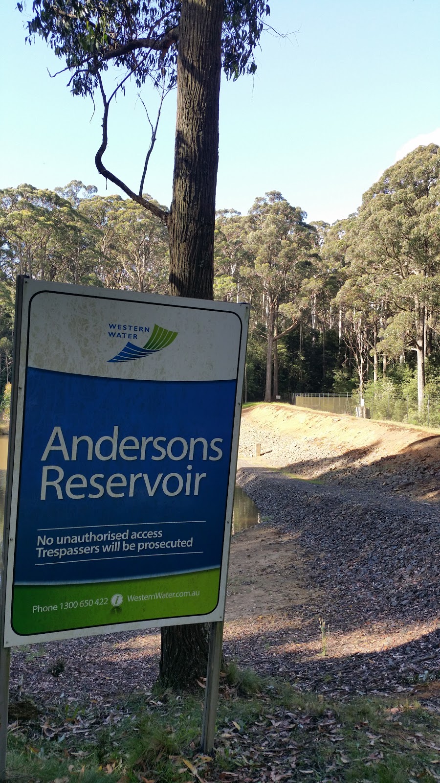
<svg viewBox="0 0 440 783">
<path fill-rule="evenodd" d="M 182 0 L 169 222 L 170 293 L 176 296 L 214 296 L 222 20 L 223 0 Z M 160 682 L 190 687 L 206 675 L 207 651 L 206 625 L 162 628 Z"/>
</svg>

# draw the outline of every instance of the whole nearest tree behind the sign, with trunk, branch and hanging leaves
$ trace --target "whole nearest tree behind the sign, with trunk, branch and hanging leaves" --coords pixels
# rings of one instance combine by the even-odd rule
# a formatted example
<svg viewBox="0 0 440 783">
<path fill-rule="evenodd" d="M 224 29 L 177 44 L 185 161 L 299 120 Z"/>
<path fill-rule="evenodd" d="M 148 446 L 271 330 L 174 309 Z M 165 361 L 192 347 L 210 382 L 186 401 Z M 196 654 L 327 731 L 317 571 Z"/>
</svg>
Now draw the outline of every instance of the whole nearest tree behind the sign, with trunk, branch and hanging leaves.
<svg viewBox="0 0 440 783">
<path fill-rule="evenodd" d="M 265 0 L 34 0 L 33 8 L 30 37 L 41 35 L 65 60 L 74 93 L 93 96 L 98 91 L 102 98 L 98 171 L 168 226 L 171 294 L 212 298 L 222 63 L 228 77 L 254 72 L 253 52 L 269 5 Z M 106 92 L 109 63 L 121 78 Z M 157 122 L 151 124 L 151 143 L 137 192 L 103 164 L 110 105 L 129 79 L 139 89 L 151 79 L 162 96 L 177 85 L 169 212 L 142 196 Z M 196 655 L 199 648 L 206 654 Z M 164 679 L 186 684 L 206 662 L 203 630 L 191 626 L 186 631 L 163 630 Z"/>
</svg>

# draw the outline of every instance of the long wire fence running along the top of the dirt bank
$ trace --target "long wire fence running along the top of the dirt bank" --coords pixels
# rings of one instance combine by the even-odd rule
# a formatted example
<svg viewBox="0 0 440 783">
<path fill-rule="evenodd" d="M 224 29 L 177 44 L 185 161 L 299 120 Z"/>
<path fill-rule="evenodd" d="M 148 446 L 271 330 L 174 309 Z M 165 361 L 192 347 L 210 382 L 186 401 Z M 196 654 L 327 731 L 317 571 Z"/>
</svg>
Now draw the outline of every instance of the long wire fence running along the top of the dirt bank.
<svg viewBox="0 0 440 783">
<path fill-rule="evenodd" d="M 440 428 L 440 397 L 426 395 L 419 409 L 417 396 L 399 396 L 392 391 L 359 394 L 349 392 L 321 392 L 320 394 L 297 394 L 291 396 L 292 405 L 329 413 L 345 413 L 380 421 L 399 421 L 419 424 L 424 427 Z"/>
</svg>

